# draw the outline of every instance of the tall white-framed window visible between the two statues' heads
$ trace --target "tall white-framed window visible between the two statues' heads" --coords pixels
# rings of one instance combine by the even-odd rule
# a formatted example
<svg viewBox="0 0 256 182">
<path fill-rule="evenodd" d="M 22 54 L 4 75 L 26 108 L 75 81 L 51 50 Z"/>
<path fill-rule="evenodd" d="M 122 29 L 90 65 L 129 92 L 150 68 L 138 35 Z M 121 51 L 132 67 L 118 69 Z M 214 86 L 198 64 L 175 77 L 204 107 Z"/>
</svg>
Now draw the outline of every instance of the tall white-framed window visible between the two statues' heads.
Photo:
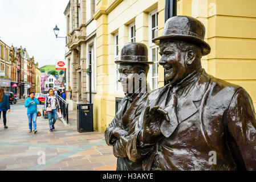
<svg viewBox="0 0 256 182">
<path fill-rule="evenodd" d="M 159 47 L 152 42 L 152 39 L 158 36 L 158 13 L 157 10 L 149 14 L 149 60 L 154 64 L 149 67 L 149 82 L 152 89 L 158 88 L 158 55 Z"/>
</svg>

